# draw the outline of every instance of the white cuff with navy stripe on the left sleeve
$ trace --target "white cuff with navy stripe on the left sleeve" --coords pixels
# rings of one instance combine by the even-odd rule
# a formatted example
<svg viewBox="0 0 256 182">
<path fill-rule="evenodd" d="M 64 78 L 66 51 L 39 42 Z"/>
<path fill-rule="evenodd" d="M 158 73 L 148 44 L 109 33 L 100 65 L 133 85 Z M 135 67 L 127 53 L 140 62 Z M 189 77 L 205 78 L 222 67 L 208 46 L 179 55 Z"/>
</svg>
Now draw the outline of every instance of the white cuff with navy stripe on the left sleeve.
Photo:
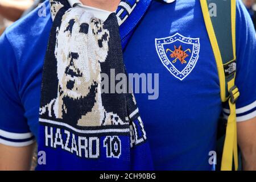
<svg viewBox="0 0 256 182">
<path fill-rule="evenodd" d="M 35 142 L 32 133 L 11 133 L 0 129 L 0 143 L 6 146 L 24 147 Z"/>
</svg>

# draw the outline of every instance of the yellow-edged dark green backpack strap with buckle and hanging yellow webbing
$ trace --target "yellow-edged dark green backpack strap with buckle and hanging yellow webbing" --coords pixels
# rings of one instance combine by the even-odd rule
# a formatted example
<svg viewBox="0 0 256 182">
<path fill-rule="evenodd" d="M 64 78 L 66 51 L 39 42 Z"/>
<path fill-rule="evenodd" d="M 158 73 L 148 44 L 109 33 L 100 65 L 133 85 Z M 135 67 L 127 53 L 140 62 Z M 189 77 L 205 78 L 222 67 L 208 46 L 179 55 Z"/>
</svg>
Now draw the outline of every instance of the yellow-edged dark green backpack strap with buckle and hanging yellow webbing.
<svg viewBox="0 0 256 182">
<path fill-rule="evenodd" d="M 229 102 L 230 114 L 226 126 L 221 170 L 238 169 L 236 101 L 240 93 L 236 77 L 236 0 L 200 0 L 205 25 L 216 59 L 220 78 L 221 101 Z M 217 11 L 214 16 L 214 9 Z M 234 157 L 234 158 L 233 158 Z"/>
</svg>

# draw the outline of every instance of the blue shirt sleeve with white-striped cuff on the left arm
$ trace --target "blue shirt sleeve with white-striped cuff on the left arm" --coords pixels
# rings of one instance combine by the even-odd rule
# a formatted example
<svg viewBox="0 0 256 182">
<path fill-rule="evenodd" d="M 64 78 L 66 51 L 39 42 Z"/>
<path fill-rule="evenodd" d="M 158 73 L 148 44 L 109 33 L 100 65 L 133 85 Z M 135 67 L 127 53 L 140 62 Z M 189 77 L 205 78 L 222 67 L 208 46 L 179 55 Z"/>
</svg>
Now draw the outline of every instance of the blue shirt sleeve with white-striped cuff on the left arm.
<svg viewBox="0 0 256 182">
<path fill-rule="evenodd" d="M 24 117 L 18 89 L 15 53 L 3 34 L 0 37 L 0 143 L 22 147 L 33 143 L 35 137 Z"/>
</svg>

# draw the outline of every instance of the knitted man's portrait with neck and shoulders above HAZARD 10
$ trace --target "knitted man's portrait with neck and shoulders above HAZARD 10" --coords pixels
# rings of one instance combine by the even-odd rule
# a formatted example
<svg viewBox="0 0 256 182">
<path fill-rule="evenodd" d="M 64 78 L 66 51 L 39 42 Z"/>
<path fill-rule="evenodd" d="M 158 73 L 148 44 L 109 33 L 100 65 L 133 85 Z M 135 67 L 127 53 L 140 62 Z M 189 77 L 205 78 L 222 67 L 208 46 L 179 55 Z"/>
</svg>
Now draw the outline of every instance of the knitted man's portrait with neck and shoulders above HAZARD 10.
<svg viewBox="0 0 256 182">
<path fill-rule="evenodd" d="M 102 101 L 101 64 L 107 60 L 109 40 L 109 30 L 92 14 L 73 8 L 63 15 L 54 47 L 57 94 L 40 107 L 41 118 L 60 119 L 71 126 L 126 123 Z"/>
</svg>

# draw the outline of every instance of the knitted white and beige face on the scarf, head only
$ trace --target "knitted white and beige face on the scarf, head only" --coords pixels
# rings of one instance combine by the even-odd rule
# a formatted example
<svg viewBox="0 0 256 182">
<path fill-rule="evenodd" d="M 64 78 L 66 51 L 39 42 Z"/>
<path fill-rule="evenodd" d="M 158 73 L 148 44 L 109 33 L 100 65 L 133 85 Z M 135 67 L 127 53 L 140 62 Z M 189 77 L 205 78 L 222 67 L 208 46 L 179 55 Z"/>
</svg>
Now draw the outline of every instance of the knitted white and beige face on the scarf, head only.
<svg viewBox="0 0 256 182">
<path fill-rule="evenodd" d="M 73 12 L 68 12 L 57 31 L 57 77 L 59 92 L 65 97 L 86 97 L 90 88 L 101 81 L 98 62 L 104 62 L 108 55 L 109 32 L 98 27 L 100 20 L 90 17 L 85 13 L 81 19 L 79 16 L 74 18 Z"/>
</svg>

